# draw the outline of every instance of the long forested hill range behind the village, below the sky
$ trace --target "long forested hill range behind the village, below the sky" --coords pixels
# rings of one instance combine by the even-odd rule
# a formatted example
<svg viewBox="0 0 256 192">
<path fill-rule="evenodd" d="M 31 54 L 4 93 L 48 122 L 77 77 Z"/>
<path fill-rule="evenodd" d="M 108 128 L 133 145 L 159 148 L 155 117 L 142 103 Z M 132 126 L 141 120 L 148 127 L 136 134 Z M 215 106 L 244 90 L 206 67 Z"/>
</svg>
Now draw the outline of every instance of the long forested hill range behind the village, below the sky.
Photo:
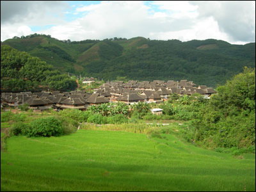
<svg viewBox="0 0 256 192">
<path fill-rule="evenodd" d="M 116 77 L 139 81 L 188 79 L 216 87 L 255 67 L 255 43 L 232 45 L 221 40 L 149 40 L 143 37 L 106 40 L 57 40 L 29 35 L 5 40 L 63 72 L 93 76 L 105 81 Z"/>
</svg>

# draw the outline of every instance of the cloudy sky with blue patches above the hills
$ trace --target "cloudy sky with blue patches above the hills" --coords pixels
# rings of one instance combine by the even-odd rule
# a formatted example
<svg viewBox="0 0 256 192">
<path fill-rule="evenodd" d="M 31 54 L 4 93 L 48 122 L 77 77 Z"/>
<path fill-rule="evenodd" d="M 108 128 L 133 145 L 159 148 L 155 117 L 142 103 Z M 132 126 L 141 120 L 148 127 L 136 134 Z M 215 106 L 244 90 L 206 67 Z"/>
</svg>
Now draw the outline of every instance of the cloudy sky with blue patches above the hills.
<svg viewBox="0 0 256 192">
<path fill-rule="evenodd" d="M 1 41 L 33 33 L 246 44 L 255 42 L 255 1 L 1 1 Z"/>
</svg>

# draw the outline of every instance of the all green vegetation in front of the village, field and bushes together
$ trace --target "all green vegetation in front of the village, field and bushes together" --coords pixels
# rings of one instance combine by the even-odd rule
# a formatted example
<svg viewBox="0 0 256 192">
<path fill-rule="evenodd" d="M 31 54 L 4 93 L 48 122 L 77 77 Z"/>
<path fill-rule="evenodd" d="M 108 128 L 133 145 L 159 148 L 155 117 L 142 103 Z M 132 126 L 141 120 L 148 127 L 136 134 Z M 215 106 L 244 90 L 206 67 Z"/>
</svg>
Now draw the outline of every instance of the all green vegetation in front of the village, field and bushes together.
<svg viewBox="0 0 256 192">
<path fill-rule="evenodd" d="M 255 191 L 255 68 L 217 90 L 131 107 L 1 111 L 1 191 Z"/>
</svg>

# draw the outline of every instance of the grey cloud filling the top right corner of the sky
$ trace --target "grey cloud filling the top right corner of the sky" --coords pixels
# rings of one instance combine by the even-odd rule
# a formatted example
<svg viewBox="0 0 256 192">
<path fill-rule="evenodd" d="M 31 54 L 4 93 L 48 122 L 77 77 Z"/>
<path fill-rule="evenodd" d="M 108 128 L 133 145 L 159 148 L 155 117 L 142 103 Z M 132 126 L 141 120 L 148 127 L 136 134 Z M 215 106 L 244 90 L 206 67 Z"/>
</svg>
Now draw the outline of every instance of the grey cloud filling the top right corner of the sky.
<svg viewBox="0 0 256 192">
<path fill-rule="evenodd" d="M 193 1 L 198 17 L 213 17 L 232 42 L 255 42 L 255 1 Z"/>
</svg>

